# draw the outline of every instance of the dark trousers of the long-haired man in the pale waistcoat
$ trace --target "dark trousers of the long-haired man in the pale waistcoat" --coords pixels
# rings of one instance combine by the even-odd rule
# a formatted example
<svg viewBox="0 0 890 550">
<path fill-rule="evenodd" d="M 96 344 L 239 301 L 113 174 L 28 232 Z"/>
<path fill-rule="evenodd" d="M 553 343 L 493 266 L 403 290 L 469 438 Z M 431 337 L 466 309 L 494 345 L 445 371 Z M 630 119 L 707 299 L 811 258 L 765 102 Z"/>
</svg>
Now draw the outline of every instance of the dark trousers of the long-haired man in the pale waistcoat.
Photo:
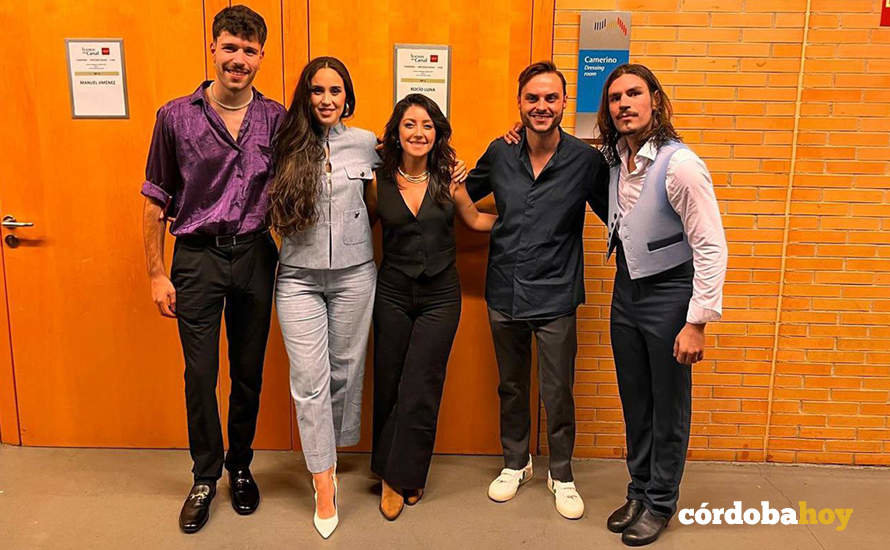
<svg viewBox="0 0 890 550">
<path fill-rule="evenodd" d="M 630 278 L 621 246 L 612 293 L 612 353 L 627 430 L 627 498 L 653 514 L 677 510 L 689 446 L 692 370 L 673 357 L 692 296 L 692 261 Z"/>
</svg>

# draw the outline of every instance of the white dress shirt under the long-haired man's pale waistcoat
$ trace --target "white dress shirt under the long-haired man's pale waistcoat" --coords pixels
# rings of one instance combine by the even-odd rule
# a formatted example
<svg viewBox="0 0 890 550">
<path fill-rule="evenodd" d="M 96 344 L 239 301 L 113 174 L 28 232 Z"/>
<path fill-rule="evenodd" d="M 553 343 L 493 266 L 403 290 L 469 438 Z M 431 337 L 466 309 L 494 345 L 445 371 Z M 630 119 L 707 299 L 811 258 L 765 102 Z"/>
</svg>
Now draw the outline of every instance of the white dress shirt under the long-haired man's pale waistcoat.
<svg viewBox="0 0 890 550">
<path fill-rule="evenodd" d="M 630 212 L 640 198 L 646 172 L 657 152 L 654 143 L 646 142 L 634 157 L 634 171 L 628 172 L 627 143 L 624 138 L 619 140 L 618 208 L 622 216 Z M 698 155 L 689 149 L 680 149 L 668 162 L 665 189 L 692 248 L 695 275 L 686 321 L 694 324 L 716 321 L 723 313 L 728 253 L 711 174 Z"/>
</svg>

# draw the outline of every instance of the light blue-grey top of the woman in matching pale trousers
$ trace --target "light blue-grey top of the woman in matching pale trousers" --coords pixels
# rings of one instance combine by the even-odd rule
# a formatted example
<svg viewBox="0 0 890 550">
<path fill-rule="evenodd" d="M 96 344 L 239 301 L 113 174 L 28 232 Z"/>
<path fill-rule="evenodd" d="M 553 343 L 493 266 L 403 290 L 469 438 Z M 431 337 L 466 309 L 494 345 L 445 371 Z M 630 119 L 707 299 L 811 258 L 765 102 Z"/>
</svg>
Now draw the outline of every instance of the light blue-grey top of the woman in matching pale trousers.
<svg viewBox="0 0 890 550">
<path fill-rule="evenodd" d="M 374 258 L 365 207 L 365 181 L 374 177 L 380 158 L 377 138 L 342 123 L 328 134 L 331 182 L 323 175 L 316 203 L 318 222 L 282 239 L 279 261 L 309 269 L 343 269 Z"/>
</svg>

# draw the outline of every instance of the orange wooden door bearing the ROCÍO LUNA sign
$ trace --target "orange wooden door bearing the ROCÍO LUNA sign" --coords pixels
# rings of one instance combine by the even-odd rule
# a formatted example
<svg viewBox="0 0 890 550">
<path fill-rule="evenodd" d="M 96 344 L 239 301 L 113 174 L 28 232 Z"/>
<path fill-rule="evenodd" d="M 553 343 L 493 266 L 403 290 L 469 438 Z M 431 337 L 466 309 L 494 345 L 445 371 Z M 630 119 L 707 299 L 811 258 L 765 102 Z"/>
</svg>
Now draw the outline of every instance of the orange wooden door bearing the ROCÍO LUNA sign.
<svg viewBox="0 0 890 550">
<path fill-rule="evenodd" d="M 309 1 L 310 57 L 332 55 L 346 64 L 357 96 L 348 124 L 378 135 L 393 107 L 393 45 L 451 45 L 453 144 L 471 166 L 518 118 L 516 79 L 530 61 L 531 41 L 531 0 L 492 0 L 481 10 L 475 0 Z M 285 80 L 295 82 L 301 68 L 285 65 Z M 448 365 L 436 451 L 498 454 L 497 365 L 482 284 L 488 236 L 459 231 L 458 243 L 463 312 Z M 368 448 L 371 431 L 370 380 L 369 375 L 362 449 Z"/>
</svg>

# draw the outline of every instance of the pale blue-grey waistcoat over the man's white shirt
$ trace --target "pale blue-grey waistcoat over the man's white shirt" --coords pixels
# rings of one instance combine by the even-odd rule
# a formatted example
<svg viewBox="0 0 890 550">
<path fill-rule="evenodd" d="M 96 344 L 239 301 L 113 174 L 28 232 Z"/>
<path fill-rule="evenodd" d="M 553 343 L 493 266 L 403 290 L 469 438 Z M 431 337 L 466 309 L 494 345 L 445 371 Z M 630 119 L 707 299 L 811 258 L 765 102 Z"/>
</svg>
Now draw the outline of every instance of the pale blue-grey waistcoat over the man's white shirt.
<svg viewBox="0 0 890 550">
<path fill-rule="evenodd" d="M 692 259 L 692 248 L 686 240 L 683 221 L 674 211 L 665 189 L 668 162 L 680 142 L 670 142 L 658 149 L 655 160 L 646 171 L 640 198 L 630 212 L 621 216 L 618 209 L 618 175 L 621 165 L 612 167 L 609 181 L 609 253 L 618 245 L 615 229 L 624 247 L 631 279 L 661 273 Z"/>
</svg>

